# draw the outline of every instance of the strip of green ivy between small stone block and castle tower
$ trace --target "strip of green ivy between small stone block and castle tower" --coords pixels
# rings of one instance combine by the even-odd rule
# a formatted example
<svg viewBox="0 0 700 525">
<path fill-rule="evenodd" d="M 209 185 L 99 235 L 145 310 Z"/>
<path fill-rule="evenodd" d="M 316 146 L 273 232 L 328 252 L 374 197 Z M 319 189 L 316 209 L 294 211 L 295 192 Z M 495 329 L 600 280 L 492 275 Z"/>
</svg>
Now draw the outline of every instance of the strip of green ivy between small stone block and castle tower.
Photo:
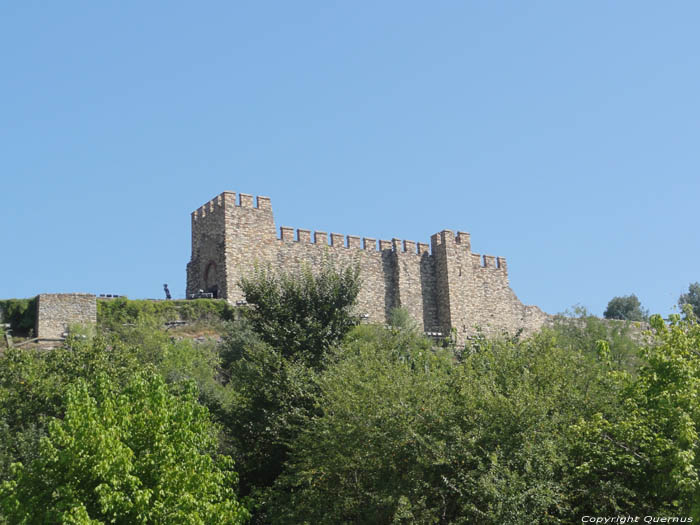
<svg viewBox="0 0 700 525">
<path fill-rule="evenodd" d="M 149 301 L 139 299 L 105 299 L 97 301 L 97 322 L 117 328 L 123 324 L 169 321 L 230 321 L 234 308 L 223 299 L 188 301 Z"/>
</svg>

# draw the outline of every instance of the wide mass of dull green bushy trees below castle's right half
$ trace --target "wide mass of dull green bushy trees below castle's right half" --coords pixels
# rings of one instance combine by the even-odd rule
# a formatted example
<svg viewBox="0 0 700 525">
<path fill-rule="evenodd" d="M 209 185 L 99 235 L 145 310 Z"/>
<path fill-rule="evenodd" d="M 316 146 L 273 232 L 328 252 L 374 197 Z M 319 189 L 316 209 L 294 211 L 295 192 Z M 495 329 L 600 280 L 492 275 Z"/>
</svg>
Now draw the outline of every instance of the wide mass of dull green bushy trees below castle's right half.
<svg viewBox="0 0 700 525">
<path fill-rule="evenodd" d="M 556 523 L 567 428 L 611 403 L 589 358 L 551 337 L 457 363 L 359 327 L 319 379 L 321 415 L 276 485 L 279 523 Z M 333 501 L 332 505 L 328 502 Z"/>
</svg>

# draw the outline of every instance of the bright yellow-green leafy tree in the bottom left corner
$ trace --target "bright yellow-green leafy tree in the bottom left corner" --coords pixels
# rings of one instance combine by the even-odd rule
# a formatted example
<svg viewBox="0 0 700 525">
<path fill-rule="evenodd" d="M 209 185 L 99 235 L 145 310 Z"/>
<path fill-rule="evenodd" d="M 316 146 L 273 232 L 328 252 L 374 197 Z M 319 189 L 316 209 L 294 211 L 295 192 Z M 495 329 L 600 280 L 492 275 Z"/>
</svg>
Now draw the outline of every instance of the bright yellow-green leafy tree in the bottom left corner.
<svg viewBox="0 0 700 525">
<path fill-rule="evenodd" d="M 15 464 L 0 489 L 3 510 L 22 523 L 241 523 L 230 458 L 216 445 L 192 384 L 177 395 L 154 372 L 118 389 L 105 374 L 92 395 L 67 390 L 39 455 Z"/>
</svg>

